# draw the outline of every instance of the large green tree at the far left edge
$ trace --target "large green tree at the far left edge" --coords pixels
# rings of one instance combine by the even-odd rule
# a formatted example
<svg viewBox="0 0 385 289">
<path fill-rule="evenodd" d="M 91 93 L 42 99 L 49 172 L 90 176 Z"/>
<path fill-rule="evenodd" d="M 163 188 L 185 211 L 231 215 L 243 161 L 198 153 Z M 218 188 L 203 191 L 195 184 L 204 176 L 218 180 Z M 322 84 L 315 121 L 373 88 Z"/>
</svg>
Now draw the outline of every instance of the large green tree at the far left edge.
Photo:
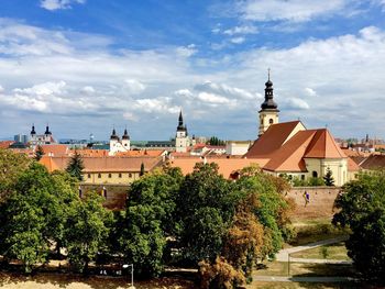
<svg viewBox="0 0 385 289">
<path fill-rule="evenodd" d="M 47 260 L 50 246 L 59 238 L 67 203 L 61 201 L 65 191 L 59 187 L 44 166 L 32 163 L 1 203 L 1 253 L 22 260 L 25 273 Z"/>
</svg>

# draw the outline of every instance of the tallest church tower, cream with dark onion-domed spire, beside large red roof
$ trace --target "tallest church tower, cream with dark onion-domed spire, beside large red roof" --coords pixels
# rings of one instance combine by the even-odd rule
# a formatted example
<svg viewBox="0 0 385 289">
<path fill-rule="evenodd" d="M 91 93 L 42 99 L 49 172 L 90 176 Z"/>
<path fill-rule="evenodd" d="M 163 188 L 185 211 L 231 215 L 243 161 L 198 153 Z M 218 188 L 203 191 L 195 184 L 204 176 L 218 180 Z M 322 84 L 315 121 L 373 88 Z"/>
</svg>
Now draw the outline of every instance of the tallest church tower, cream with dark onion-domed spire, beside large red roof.
<svg viewBox="0 0 385 289">
<path fill-rule="evenodd" d="M 258 136 L 261 136 L 270 125 L 278 123 L 278 112 L 277 103 L 273 100 L 273 82 L 270 80 L 270 69 L 268 69 L 268 80 L 265 84 L 265 101 L 261 104 L 260 110 L 260 131 Z"/>
</svg>

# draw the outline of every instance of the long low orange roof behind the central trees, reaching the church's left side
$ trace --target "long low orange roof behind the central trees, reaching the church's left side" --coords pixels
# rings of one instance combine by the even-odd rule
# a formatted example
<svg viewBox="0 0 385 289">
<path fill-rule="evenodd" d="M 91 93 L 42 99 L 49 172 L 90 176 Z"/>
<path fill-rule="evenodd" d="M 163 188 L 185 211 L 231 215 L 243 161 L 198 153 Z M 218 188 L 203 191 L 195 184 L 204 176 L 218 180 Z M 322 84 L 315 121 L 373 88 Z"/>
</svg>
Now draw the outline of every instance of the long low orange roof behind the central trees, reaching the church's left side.
<svg viewBox="0 0 385 289">
<path fill-rule="evenodd" d="M 202 163 L 200 157 L 195 158 L 175 158 L 170 160 L 172 167 L 179 167 L 184 175 L 191 174 L 197 163 Z M 262 167 L 266 160 L 255 158 L 207 158 L 207 163 L 216 163 L 219 166 L 219 174 L 224 178 L 230 178 L 231 174 L 251 165 L 258 165 Z"/>
</svg>

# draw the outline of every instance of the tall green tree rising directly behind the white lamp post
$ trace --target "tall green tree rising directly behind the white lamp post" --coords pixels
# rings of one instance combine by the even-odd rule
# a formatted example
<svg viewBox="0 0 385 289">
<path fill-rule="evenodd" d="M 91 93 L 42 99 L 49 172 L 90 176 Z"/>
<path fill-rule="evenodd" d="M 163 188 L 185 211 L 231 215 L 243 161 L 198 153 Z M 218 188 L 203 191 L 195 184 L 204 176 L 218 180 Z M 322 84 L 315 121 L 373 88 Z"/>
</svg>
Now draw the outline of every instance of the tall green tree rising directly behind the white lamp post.
<svg viewBox="0 0 385 289">
<path fill-rule="evenodd" d="M 163 271 L 166 237 L 174 235 L 175 199 L 183 176 L 165 167 L 144 175 L 131 185 L 120 246 L 127 262 L 142 276 Z"/>
</svg>

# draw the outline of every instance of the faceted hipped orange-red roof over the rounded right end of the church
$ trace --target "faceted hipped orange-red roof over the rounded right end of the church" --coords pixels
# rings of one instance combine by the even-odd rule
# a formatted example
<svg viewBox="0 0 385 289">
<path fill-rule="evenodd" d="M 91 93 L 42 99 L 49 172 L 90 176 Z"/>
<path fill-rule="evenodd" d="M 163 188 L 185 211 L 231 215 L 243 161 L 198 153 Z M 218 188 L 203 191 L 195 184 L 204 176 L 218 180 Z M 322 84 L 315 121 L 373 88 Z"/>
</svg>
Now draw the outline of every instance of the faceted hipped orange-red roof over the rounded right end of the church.
<svg viewBox="0 0 385 289">
<path fill-rule="evenodd" d="M 316 130 L 308 149 L 304 157 L 309 158 L 345 158 L 342 149 L 338 146 L 334 138 L 327 129 Z"/>
</svg>

